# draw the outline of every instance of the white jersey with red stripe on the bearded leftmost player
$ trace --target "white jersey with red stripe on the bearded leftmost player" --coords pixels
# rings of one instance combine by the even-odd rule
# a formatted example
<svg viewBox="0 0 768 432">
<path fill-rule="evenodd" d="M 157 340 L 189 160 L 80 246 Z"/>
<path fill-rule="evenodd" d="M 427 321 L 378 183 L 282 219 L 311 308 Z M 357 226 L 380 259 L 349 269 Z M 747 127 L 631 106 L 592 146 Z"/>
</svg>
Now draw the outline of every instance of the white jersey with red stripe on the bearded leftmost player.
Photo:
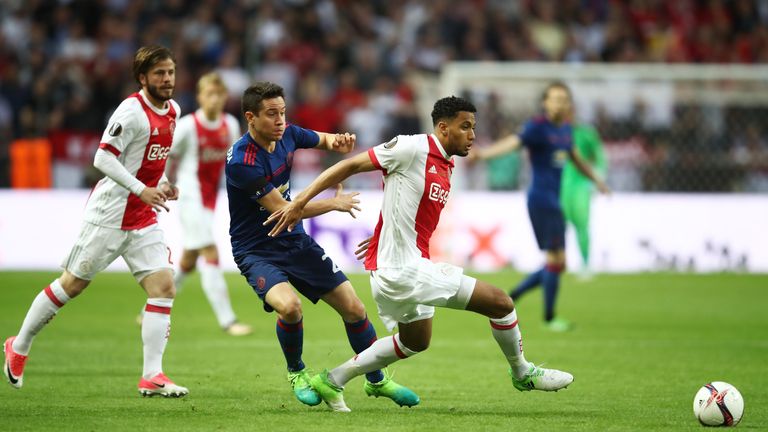
<svg viewBox="0 0 768 432">
<path fill-rule="evenodd" d="M 178 118 L 179 105 L 175 101 L 169 100 L 164 109 L 158 109 L 147 100 L 143 90 L 134 93 L 112 114 L 99 148 L 117 156 L 125 169 L 147 187 L 157 187 Z M 85 221 L 136 230 L 156 223 L 157 214 L 138 196 L 104 177 L 88 198 Z"/>
</svg>

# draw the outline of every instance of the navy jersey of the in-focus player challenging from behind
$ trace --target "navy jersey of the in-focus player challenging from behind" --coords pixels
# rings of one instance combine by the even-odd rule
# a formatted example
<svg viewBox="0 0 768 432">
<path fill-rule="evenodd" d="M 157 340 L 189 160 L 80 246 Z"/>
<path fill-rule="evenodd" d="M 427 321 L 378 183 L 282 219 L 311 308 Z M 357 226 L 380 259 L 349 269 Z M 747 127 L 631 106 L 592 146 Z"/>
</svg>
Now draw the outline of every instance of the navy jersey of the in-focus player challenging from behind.
<svg viewBox="0 0 768 432">
<path fill-rule="evenodd" d="M 237 257 L 267 247 L 271 226 L 264 226 L 269 212 L 258 201 L 277 189 L 286 201 L 291 200 L 291 164 L 293 153 L 300 148 L 313 148 L 320 142 L 314 131 L 289 125 L 272 153 L 259 147 L 250 133 L 232 145 L 224 169 L 229 197 L 229 236 L 232 254 Z M 299 223 L 292 232 L 283 231 L 275 238 L 306 235 Z"/>
</svg>

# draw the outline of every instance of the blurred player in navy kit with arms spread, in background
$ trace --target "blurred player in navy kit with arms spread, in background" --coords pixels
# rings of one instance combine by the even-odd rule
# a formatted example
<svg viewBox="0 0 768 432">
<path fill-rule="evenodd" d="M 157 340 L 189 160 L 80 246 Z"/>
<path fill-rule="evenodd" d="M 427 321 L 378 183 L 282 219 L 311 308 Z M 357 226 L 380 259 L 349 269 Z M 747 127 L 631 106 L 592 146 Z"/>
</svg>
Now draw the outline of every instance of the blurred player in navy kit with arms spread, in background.
<svg viewBox="0 0 768 432">
<path fill-rule="evenodd" d="M 533 180 L 528 188 L 528 216 L 539 249 L 546 255 L 544 267 L 528 275 L 510 296 L 517 300 L 538 285 L 544 287 L 544 321 L 552 331 L 567 331 L 568 320 L 555 316 L 560 274 L 565 270 L 565 219 L 560 206 L 560 183 L 563 166 L 571 160 L 574 166 L 608 193 L 605 183 L 573 148 L 573 131 L 569 123 L 571 93 L 561 82 L 549 84 L 542 96 L 543 114 L 528 120 L 520 134 L 511 134 L 490 147 L 477 149 L 473 159 L 492 159 L 520 148 L 528 149 Z"/>
</svg>

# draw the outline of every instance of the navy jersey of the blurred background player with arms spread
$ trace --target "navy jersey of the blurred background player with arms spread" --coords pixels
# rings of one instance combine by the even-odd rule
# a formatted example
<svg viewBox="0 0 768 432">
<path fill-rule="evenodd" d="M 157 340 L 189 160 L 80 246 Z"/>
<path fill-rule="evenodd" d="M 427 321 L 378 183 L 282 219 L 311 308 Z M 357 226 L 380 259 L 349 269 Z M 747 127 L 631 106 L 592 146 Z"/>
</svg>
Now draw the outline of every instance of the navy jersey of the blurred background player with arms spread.
<svg viewBox="0 0 768 432">
<path fill-rule="evenodd" d="M 523 125 L 520 140 L 528 148 L 533 171 L 528 204 L 560 208 L 560 177 L 573 147 L 570 123 L 557 126 L 545 116 L 536 116 Z"/>
</svg>

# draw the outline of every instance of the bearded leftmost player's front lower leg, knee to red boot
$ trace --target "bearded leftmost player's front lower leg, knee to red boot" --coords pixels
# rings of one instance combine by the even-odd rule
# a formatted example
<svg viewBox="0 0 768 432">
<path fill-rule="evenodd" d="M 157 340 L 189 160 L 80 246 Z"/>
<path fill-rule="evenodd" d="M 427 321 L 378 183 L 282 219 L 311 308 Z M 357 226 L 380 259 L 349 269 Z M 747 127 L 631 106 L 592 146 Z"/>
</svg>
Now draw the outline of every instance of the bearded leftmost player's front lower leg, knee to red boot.
<svg viewBox="0 0 768 432">
<path fill-rule="evenodd" d="M 159 270 L 144 277 L 140 284 L 148 298 L 141 325 L 144 367 L 139 393 L 143 396 L 185 396 L 189 390 L 175 384 L 163 373 L 163 353 L 171 333 L 171 308 L 176 296 L 173 274 L 171 270 Z"/>
</svg>

